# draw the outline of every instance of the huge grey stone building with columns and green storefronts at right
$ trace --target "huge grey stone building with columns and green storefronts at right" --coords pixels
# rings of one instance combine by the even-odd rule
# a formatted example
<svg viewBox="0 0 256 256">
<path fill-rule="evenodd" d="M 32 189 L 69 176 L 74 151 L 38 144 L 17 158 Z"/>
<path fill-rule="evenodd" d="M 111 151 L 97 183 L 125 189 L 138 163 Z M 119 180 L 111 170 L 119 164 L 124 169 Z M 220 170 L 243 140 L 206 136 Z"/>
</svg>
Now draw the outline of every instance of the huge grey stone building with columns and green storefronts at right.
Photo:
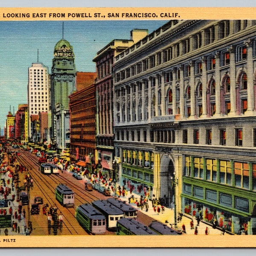
<svg viewBox="0 0 256 256">
<path fill-rule="evenodd" d="M 256 234 L 256 21 L 169 21 L 114 69 L 121 182 Z"/>
</svg>

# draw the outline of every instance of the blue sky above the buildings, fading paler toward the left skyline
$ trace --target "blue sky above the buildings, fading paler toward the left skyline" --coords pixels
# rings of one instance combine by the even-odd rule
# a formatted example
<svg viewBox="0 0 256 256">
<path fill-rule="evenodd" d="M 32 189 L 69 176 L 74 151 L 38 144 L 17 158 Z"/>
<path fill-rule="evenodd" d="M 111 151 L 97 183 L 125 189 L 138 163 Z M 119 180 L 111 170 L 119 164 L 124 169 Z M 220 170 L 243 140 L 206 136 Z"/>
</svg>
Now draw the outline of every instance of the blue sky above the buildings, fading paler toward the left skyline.
<svg viewBox="0 0 256 256">
<path fill-rule="evenodd" d="M 76 70 L 95 72 L 92 59 L 113 39 L 130 39 L 132 29 L 151 33 L 167 21 L 64 21 L 64 39 L 75 53 Z M 0 128 L 10 110 L 27 103 L 28 68 L 39 61 L 51 73 L 53 50 L 62 38 L 62 21 L 0 21 Z"/>
</svg>

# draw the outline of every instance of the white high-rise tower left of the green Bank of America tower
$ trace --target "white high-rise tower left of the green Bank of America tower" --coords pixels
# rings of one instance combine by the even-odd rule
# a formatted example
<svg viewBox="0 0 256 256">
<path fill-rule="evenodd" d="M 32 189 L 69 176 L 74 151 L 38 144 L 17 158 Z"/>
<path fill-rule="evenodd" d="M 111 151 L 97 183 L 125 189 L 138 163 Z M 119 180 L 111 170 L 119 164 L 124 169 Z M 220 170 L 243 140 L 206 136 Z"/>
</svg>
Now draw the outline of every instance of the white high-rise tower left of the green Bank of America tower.
<svg viewBox="0 0 256 256">
<path fill-rule="evenodd" d="M 29 67 L 28 79 L 28 114 L 38 115 L 40 112 L 49 112 L 49 72 L 48 67 L 41 62 L 32 63 Z M 29 120 L 29 138 L 32 139 L 31 118 Z"/>
</svg>

